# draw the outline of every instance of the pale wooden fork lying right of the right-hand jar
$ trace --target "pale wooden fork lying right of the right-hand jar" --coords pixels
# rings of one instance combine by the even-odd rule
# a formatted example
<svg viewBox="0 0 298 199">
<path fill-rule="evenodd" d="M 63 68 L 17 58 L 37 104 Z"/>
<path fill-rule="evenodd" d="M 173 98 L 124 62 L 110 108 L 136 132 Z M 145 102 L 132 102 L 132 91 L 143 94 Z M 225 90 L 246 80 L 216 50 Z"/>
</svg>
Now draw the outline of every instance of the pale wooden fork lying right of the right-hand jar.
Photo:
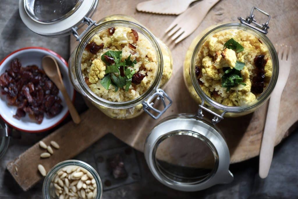
<svg viewBox="0 0 298 199">
<path fill-rule="evenodd" d="M 270 169 L 273 149 L 275 142 L 276 127 L 278 121 L 278 113 L 280 107 L 280 99 L 288 80 L 291 62 L 292 62 L 292 47 L 279 46 L 277 48 L 279 61 L 279 74 L 277 84 L 271 94 L 266 124 L 264 128 L 263 140 L 260 150 L 259 175 L 261 178 L 266 178 Z"/>
</svg>

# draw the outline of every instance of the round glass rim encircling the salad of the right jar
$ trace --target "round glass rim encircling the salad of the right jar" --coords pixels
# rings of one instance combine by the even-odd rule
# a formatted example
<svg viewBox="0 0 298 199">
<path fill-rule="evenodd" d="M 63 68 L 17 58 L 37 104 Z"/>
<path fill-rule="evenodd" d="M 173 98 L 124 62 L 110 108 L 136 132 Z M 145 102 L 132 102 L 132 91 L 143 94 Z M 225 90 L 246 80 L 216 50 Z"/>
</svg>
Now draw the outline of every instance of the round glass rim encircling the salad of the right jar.
<svg viewBox="0 0 298 199">
<path fill-rule="evenodd" d="M 245 104 L 242 106 L 225 106 L 223 104 L 220 104 L 211 98 L 209 98 L 206 93 L 201 89 L 201 86 L 199 85 L 197 81 L 197 77 L 195 75 L 195 61 L 197 54 L 201 48 L 201 46 L 204 44 L 204 42 L 213 34 L 223 31 L 223 30 L 229 30 L 229 29 L 240 29 L 240 30 L 245 30 L 254 36 L 260 37 L 264 41 L 264 45 L 268 48 L 268 52 L 271 56 L 272 60 L 272 76 L 270 79 L 270 82 L 268 84 L 268 87 L 265 89 L 265 91 L 254 101 L 249 104 Z M 199 95 L 199 97 L 202 99 L 202 101 L 207 102 L 210 106 L 219 109 L 221 111 L 225 112 L 245 112 L 249 111 L 253 108 L 259 108 L 263 101 L 265 101 L 270 95 L 271 92 L 273 91 L 275 84 L 277 83 L 277 78 L 278 78 L 278 72 L 279 72 L 279 62 L 278 62 L 278 57 L 276 50 L 269 40 L 269 38 L 263 34 L 258 32 L 257 30 L 254 30 L 245 24 L 241 23 L 228 23 L 228 24 L 222 24 L 219 25 L 212 30 L 209 30 L 201 39 L 198 41 L 198 43 L 195 46 L 195 49 L 193 50 L 192 57 L 191 57 L 191 62 L 190 62 L 190 76 L 191 76 L 191 81 L 193 83 L 193 86 L 195 88 L 196 93 Z M 203 104 L 203 103 L 202 103 Z"/>
</svg>

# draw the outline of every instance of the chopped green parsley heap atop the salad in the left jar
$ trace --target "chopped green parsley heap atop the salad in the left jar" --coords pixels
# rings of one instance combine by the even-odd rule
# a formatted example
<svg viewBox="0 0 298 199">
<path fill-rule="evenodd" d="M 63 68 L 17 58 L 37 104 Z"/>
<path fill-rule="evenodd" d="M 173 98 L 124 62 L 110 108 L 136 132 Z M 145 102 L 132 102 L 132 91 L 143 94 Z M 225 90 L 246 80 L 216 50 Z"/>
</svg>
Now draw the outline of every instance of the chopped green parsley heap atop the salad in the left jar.
<svg viewBox="0 0 298 199">
<path fill-rule="evenodd" d="M 125 91 L 128 91 L 131 85 L 131 78 L 136 70 L 131 70 L 128 67 L 134 67 L 136 60 L 131 61 L 131 55 L 124 61 L 122 59 L 122 51 L 109 50 L 101 56 L 101 60 L 106 64 L 105 77 L 100 81 L 100 84 L 108 90 L 110 84 L 115 87 L 115 92 L 118 88 L 125 86 Z M 122 68 L 121 68 L 122 67 Z M 120 70 L 124 76 L 121 76 Z"/>
</svg>

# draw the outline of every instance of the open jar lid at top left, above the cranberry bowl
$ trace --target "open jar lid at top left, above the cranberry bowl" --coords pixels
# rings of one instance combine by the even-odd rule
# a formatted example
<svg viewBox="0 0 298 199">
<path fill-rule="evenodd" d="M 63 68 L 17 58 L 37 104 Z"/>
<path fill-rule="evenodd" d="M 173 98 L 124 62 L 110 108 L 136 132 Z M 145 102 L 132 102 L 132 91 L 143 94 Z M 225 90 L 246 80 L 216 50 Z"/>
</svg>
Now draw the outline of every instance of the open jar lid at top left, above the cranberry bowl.
<svg viewBox="0 0 298 199">
<path fill-rule="evenodd" d="M 20 0 L 19 13 L 24 24 L 42 36 L 65 36 L 72 27 L 90 17 L 98 0 Z"/>
</svg>

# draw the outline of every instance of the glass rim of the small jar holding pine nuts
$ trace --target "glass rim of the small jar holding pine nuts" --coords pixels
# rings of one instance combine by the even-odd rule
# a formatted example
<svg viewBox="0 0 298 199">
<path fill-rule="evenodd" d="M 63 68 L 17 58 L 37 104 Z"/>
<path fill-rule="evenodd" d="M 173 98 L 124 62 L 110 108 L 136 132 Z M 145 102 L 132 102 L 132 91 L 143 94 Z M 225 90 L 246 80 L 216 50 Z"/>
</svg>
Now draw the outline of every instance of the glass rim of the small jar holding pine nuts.
<svg viewBox="0 0 298 199">
<path fill-rule="evenodd" d="M 42 188 L 44 199 L 51 199 L 49 197 L 49 186 L 51 184 L 51 179 L 52 179 L 52 177 L 54 177 L 55 173 L 59 169 L 62 169 L 65 166 L 80 166 L 80 167 L 86 169 L 87 171 L 89 171 L 91 173 L 91 175 L 94 177 L 95 182 L 97 184 L 96 198 L 100 199 L 102 197 L 103 185 L 102 185 L 101 179 L 100 179 L 98 173 L 96 172 L 96 170 L 86 162 L 83 162 L 80 160 L 66 160 L 66 161 L 62 161 L 62 162 L 56 164 L 55 166 L 53 166 L 52 169 L 47 173 L 46 177 L 44 178 L 44 183 L 43 183 L 43 188 Z"/>
</svg>

